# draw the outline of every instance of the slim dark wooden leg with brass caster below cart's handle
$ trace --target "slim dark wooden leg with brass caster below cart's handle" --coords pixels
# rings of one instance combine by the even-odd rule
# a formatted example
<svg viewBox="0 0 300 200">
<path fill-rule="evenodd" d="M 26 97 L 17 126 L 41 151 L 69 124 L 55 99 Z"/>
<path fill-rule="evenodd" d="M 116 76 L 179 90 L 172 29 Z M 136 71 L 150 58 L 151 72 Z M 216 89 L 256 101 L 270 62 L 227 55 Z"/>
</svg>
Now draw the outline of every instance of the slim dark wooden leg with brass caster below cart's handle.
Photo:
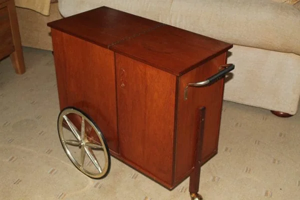
<svg viewBox="0 0 300 200">
<path fill-rule="evenodd" d="M 200 169 L 201 169 L 201 152 L 204 133 L 205 107 L 200 107 L 197 113 L 197 142 L 195 149 L 195 163 L 193 171 L 189 176 L 189 193 L 192 200 L 202 200 L 202 196 L 198 194 Z"/>
</svg>

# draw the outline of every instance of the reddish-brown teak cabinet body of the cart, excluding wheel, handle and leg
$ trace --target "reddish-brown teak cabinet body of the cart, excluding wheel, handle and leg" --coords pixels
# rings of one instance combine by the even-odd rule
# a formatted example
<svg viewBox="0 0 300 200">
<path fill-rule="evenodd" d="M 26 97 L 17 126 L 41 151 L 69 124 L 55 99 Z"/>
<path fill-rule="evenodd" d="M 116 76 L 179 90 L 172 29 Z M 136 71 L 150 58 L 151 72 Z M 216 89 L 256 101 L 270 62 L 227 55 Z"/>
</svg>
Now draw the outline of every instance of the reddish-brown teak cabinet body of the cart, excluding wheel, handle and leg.
<svg viewBox="0 0 300 200">
<path fill-rule="evenodd" d="M 203 107 L 200 164 L 216 154 L 223 78 L 184 89 L 231 44 L 105 6 L 48 25 L 60 108 L 88 113 L 113 156 L 172 189 L 195 167 Z"/>
</svg>

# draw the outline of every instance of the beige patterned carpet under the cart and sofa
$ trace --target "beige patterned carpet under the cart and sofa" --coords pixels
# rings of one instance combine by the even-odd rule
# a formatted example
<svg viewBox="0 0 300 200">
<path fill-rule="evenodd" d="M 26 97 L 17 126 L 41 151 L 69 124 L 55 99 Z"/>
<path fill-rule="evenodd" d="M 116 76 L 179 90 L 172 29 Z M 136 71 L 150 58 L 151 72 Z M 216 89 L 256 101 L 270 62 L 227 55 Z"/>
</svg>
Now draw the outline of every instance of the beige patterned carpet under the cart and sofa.
<svg viewBox="0 0 300 200">
<path fill-rule="evenodd" d="M 0 199 L 189 199 L 188 179 L 172 191 L 112 158 L 110 173 L 91 179 L 64 153 L 50 51 L 24 48 L 26 73 L 0 61 Z M 238 66 L 236 66 L 238 67 Z M 204 199 L 300 197 L 300 113 L 224 102 L 218 154 L 203 165 Z"/>
</svg>

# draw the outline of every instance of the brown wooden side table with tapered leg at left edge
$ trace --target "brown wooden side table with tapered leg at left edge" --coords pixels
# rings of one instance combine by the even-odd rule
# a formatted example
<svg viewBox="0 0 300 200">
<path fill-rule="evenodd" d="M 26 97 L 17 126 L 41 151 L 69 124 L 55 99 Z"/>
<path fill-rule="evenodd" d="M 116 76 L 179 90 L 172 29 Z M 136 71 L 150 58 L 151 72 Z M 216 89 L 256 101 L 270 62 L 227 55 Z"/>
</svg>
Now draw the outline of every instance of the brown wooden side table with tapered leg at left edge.
<svg viewBox="0 0 300 200">
<path fill-rule="evenodd" d="M 24 57 L 15 4 L 13 0 L 0 0 L 0 59 L 10 56 L 14 70 L 25 72 Z"/>
</svg>

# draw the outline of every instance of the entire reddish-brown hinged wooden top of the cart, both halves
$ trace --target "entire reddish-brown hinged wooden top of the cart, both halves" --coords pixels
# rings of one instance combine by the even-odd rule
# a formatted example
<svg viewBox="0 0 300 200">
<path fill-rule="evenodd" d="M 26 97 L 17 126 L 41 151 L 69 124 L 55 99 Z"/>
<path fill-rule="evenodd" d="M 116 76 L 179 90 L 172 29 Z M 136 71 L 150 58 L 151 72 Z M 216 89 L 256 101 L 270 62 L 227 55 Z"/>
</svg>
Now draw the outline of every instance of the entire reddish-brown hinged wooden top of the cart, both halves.
<svg viewBox="0 0 300 200">
<path fill-rule="evenodd" d="M 105 6 L 48 23 L 174 75 L 227 51 L 232 44 Z"/>
</svg>

